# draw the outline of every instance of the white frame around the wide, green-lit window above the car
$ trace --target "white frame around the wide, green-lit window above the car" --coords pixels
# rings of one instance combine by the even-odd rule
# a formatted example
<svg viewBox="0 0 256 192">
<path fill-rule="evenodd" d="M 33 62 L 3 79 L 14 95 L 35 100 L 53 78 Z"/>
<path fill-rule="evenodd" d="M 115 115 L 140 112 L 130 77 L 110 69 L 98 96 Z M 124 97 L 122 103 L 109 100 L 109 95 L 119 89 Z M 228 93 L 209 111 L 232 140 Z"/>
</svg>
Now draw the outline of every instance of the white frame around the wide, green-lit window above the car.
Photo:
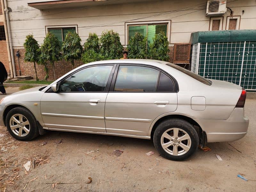
<svg viewBox="0 0 256 192">
<path fill-rule="evenodd" d="M 171 20 L 161 20 L 161 21 L 142 21 L 142 22 L 128 22 L 125 23 L 125 45 L 128 45 L 128 26 L 138 26 L 138 25 L 154 25 L 154 24 L 167 24 L 167 31 L 166 31 L 166 36 L 168 38 L 169 44 L 170 44 L 170 39 L 171 39 Z"/>
</svg>

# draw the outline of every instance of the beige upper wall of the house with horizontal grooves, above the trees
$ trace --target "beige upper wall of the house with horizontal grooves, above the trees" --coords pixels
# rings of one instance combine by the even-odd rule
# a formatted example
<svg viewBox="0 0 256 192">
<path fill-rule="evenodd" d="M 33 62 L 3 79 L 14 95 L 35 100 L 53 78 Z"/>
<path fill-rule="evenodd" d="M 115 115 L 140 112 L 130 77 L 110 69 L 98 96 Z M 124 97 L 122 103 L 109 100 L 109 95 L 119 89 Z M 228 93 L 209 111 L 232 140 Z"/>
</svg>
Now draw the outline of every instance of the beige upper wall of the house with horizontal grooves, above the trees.
<svg viewBox="0 0 256 192">
<path fill-rule="evenodd" d="M 234 15 L 241 15 L 240 29 L 256 29 L 256 1 L 231 1 L 234 0 L 228 0 L 230 3 L 227 6 L 234 11 Z M 121 43 L 125 45 L 125 37 L 127 37 L 125 21 L 171 20 L 170 44 L 188 43 L 191 32 L 209 30 L 209 17 L 205 16 L 206 4 L 203 4 L 206 2 L 206 0 L 158 0 L 88 8 L 52 9 L 51 7 L 51 10 L 40 11 L 28 7 L 28 0 L 10 1 L 8 7 L 12 9 L 10 12 L 12 42 L 14 47 L 22 47 L 25 36 L 33 33 L 38 43 L 42 44 L 46 35 L 45 26 L 77 25 L 82 44 L 90 32 L 96 32 L 100 36 L 102 31 L 113 29 L 119 33 Z M 170 12 L 173 10 L 178 11 Z M 244 14 L 242 14 L 243 10 Z M 160 13 L 163 14 L 156 15 Z M 230 14 L 229 10 L 227 14 Z M 223 15 L 223 30 L 226 27 L 227 14 Z"/>
</svg>

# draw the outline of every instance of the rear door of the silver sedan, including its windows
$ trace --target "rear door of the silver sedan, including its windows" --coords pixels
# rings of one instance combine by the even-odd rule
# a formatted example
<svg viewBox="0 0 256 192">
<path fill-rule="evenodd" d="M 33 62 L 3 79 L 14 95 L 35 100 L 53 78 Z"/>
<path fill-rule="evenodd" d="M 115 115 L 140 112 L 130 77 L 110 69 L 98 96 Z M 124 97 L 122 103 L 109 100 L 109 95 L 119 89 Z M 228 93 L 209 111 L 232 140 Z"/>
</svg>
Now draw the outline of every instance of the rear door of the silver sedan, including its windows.
<svg viewBox="0 0 256 192">
<path fill-rule="evenodd" d="M 105 105 L 108 133 L 148 136 L 152 121 L 177 108 L 168 74 L 145 65 L 118 65 Z"/>
</svg>

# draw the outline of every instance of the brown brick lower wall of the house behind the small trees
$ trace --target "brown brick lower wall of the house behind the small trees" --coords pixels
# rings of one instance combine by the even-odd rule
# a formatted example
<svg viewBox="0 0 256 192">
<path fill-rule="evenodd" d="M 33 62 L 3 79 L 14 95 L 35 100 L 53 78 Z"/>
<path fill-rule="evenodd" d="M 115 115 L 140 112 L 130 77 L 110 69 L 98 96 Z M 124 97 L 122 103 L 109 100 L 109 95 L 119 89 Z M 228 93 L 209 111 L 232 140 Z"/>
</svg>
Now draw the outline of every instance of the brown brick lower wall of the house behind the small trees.
<svg viewBox="0 0 256 192">
<path fill-rule="evenodd" d="M 15 60 L 16 75 L 19 76 L 20 75 L 19 74 L 19 63 L 18 63 L 18 57 L 16 56 L 17 50 L 18 49 L 13 49 L 13 53 L 14 53 L 14 60 Z M 24 76 L 24 75 L 32 76 L 33 79 L 36 79 L 34 63 L 25 62 L 24 61 L 25 49 L 19 49 L 19 50 L 20 50 L 21 75 L 22 76 Z M 169 52 L 170 62 L 173 61 L 173 51 L 174 51 L 174 46 L 170 46 L 170 52 Z M 8 59 L 8 55 L 7 55 L 7 59 Z M 83 64 L 84 63 L 82 61 L 76 61 L 74 68 L 79 67 Z M 54 69 L 55 69 L 55 74 L 56 74 L 57 79 L 72 70 L 71 63 L 67 62 L 65 60 L 61 60 L 61 61 L 55 63 L 54 65 L 55 65 Z M 47 66 L 49 68 L 49 79 L 48 80 L 54 80 L 53 68 L 50 64 L 48 64 Z M 36 64 L 36 71 L 37 71 L 38 78 L 40 80 L 43 80 L 44 76 L 45 76 L 44 66 Z"/>
</svg>

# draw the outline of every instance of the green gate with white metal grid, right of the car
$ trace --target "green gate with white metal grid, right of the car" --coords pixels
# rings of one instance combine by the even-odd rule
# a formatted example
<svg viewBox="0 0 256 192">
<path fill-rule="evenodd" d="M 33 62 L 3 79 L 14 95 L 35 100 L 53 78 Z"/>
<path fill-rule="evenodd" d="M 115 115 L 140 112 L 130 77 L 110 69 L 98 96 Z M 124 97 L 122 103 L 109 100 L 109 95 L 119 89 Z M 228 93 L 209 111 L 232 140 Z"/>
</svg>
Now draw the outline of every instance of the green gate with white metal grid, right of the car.
<svg viewBox="0 0 256 192">
<path fill-rule="evenodd" d="M 238 84 L 246 90 L 256 90 L 255 46 L 256 41 L 194 44 L 191 71 L 205 78 Z"/>
</svg>

